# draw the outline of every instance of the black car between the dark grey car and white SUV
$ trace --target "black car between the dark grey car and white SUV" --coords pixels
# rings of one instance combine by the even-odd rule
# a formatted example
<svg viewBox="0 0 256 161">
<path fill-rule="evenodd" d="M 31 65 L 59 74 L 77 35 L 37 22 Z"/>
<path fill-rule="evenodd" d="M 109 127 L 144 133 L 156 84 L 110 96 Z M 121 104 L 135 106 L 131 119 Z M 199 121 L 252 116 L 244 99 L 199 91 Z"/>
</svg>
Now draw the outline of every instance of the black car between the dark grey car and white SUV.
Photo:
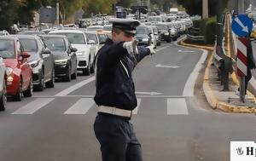
<svg viewBox="0 0 256 161">
<path fill-rule="evenodd" d="M 64 78 L 67 82 L 77 78 L 77 49 L 72 48 L 66 36 L 41 36 L 55 58 L 55 78 Z"/>
</svg>

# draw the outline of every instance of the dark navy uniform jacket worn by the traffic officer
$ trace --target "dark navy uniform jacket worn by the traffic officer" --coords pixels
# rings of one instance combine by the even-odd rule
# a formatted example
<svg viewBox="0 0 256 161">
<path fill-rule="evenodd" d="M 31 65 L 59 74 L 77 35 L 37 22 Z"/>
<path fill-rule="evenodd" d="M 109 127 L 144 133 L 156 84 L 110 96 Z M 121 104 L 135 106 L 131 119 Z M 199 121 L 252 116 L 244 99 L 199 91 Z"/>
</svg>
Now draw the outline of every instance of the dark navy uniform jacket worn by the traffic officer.
<svg viewBox="0 0 256 161">
<path fill-rule="evenodd" d="M 137 106 L 131 72 L 137 62 L 150 54 L 145 47 L 137 47 L 138 55 L 129 55 L 124 42 L 107 39 L 96 57 L 96 95 L 98 106 L 113 106 L 133 110 Z"/>
</svg>

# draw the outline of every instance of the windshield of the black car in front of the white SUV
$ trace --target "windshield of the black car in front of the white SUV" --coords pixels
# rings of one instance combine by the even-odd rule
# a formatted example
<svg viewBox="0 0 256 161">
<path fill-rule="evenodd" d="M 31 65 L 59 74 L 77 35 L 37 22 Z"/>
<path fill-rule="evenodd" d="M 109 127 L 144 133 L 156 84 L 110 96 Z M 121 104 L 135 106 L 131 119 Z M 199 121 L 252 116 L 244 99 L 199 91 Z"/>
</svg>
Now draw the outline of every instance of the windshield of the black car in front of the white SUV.
<svg viewBox="0 0 256 161">
<path fill-rule="evenodd" d="M 44 37 L 44 43 L 52 51 L 66 51 L 66 45 L 63 38 Z"/>
</svg>

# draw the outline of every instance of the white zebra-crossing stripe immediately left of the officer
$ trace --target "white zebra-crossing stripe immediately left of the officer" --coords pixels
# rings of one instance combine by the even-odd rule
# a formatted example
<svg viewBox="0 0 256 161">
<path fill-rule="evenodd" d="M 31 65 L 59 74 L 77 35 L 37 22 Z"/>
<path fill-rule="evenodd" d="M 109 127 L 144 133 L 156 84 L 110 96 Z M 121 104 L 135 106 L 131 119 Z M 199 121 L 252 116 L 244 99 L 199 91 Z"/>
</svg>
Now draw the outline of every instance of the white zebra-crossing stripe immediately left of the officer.
<svg viewBox="0 0 256 161">
<path fill-rule="evenodd" d="M 94 105 L 94 100 L 90 98 L 82 98 L 71 106 L 64 114 L 85 114 L 90 107 Z"/>
</svg>

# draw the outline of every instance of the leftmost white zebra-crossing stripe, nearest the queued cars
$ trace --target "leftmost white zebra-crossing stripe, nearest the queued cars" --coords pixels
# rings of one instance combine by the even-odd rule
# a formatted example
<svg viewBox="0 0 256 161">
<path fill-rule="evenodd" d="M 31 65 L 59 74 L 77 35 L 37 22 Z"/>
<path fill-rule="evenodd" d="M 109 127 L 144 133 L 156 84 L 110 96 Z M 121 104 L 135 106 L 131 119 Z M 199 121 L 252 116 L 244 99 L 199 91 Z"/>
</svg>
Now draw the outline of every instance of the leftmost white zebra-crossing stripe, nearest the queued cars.
<svg viewBox="0 0 256 161">
<path fill-rule="evenodd" d="M 37 100 L 28 103 L 26 106 L 22 106 L 20 109 L 16 110 L 12 114 L 32 114 L 53 100 L 55 99 L 54 98 L 38 98 Z"/>
</svg>

